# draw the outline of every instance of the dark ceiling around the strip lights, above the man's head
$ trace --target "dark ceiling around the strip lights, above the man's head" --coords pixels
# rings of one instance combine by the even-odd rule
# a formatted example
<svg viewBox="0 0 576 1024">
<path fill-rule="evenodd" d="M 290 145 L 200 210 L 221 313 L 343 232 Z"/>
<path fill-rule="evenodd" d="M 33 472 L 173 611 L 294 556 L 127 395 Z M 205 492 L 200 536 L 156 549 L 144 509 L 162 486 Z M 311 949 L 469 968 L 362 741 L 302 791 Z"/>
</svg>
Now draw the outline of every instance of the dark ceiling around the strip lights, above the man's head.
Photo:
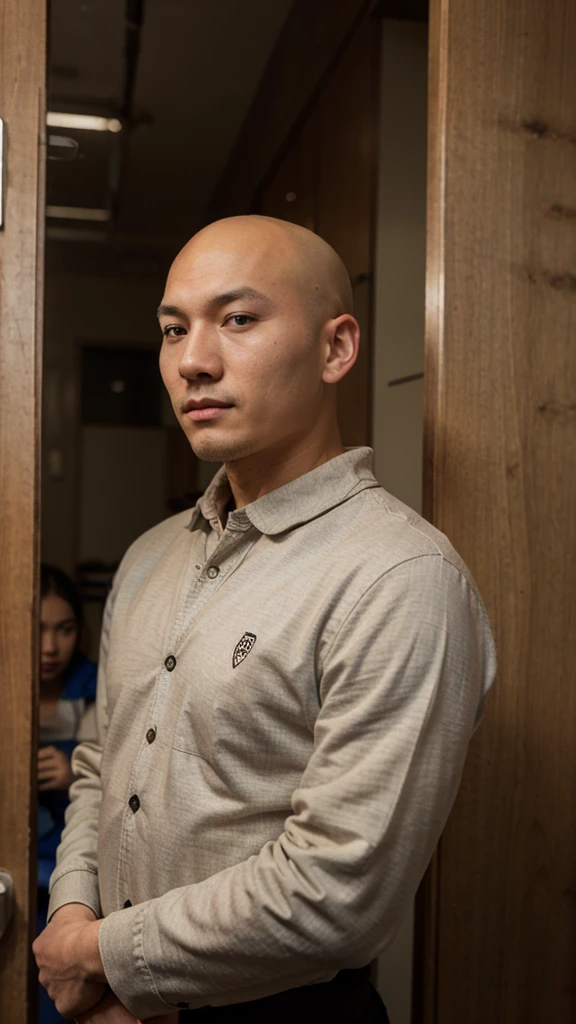
<svg viewBox="0 0 576 1024">
<path fill-rule="evenodd" d="M 52 0 L 49 109 L 121 116 L 126 10 L 138 0 Z M 121 182 L 116 238 L 189 237 L 234 148 L 292 0 L 146 0 L 130 126 L 50 129 L 79 143 L 50 160 L 50 206 L 104 209 Z M 137 33 L 133 34 L 137 38 Z M 112 238 L 110 226 L 50 219 L 49 237 Z"/>
</svg>

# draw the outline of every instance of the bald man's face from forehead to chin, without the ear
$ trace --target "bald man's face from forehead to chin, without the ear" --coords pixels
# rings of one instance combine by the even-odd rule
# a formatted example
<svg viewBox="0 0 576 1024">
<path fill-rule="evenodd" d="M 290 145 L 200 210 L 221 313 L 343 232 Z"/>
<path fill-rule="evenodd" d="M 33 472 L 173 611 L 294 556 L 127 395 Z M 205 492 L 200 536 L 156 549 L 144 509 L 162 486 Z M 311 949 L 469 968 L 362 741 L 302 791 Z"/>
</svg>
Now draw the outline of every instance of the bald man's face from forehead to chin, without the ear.
<svg viewBox="0 0 576 1024">
<path fill-rule="evenodd" d="M 279 456 L 320 415 L 321 328 L 290 252 L 258 242 L 193 242 L 159 309 L 162 379 L 194 452 L 209 462 Z"/>
</svg>

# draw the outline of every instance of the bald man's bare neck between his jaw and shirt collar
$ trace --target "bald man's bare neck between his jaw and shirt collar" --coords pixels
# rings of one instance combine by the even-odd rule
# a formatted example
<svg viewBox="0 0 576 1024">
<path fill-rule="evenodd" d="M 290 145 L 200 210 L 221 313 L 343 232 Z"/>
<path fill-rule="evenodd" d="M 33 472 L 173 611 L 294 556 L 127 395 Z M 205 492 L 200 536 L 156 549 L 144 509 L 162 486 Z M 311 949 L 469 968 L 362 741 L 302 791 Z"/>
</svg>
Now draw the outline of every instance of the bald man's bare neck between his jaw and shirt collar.
<svg viewBox="0 0 576 1024">
<path fill-rule="evenodd" d="M 289 454 L 262 452 L 227 463 L 227 474 L 236 508 L 250 505 L 263 495 L 310 473 L 343 452 L 338 435 L 328 443 L 310 441 Z"/>
</svg>

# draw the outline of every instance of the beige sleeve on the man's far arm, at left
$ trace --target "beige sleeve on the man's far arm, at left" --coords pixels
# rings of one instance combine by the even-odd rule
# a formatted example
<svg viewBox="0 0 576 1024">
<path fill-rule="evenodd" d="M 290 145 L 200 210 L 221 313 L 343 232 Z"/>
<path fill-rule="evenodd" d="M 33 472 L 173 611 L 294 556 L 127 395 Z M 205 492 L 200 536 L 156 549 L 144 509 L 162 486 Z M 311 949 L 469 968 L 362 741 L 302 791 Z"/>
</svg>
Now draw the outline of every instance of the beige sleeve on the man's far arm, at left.
<svg viewBox="0 0 576 1024">
<path fill-rule="evenodd" d="M 70 790 L 66 827 L 50 878 L 48 920 L 66 903 L 84 903 L 100 916 L 97 874 L 98 819 L 101 802 L 100 759 L 108 729 L 106 667 L 114 591 L 105 608 L 96 689 L 96 738 L 81 741 L 72 755 L 75 780 Z M 87 733 L 84 732 L 84 735 Z"/>
</svg>

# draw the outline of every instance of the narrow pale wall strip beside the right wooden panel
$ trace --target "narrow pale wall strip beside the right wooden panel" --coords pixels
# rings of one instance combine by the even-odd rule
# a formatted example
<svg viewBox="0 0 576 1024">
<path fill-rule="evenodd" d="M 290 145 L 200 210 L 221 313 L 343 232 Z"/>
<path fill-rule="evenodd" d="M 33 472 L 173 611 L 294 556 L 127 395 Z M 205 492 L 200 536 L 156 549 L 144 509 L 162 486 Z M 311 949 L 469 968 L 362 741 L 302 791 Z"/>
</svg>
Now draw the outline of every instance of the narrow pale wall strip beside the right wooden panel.
<svg viewBox="0 0 576 1024">
<path fill-rule="evenodd" d="M 374 470 L 416 511 L 421 501 L 427 27 L 382 23 L 380 152 L 375 266 Z M 413 909 L 380 956 L 378 989 L 392 1024 L 410 1024 Z"/>
</svg>

